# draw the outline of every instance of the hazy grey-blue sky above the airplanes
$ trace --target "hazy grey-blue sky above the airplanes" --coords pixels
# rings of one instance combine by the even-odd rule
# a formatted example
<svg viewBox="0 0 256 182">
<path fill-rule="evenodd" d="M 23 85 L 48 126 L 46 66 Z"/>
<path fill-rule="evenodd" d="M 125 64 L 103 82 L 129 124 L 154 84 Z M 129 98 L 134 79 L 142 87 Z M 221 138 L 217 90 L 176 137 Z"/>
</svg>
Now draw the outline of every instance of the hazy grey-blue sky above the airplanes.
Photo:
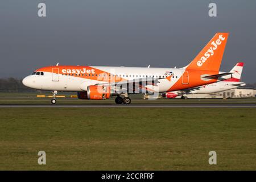
<svg viewBox="0 0 256 182">
<path fill-rule="evenodd" d="M 46 18 L 38 3 L 46 3 Z M 217 17 L 208 16 L 210 2 Z M 256 1 L 1 0 L 0 77 L 47 65 L 184 67 L 216 32 L 230 32 L 221 71 L 245 62 L 256 82 Z"/>
</svg>

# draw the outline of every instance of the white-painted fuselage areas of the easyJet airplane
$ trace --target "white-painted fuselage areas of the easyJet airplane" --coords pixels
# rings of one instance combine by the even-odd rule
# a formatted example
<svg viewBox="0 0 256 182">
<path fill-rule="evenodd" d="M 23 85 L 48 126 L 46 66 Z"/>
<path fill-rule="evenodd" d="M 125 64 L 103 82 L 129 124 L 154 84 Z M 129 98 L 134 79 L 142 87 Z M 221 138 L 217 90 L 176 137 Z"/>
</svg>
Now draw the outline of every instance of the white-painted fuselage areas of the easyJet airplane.
<svg viewBox="0 0 256 182">
<path fill-rule="evenodd" d="M 147 88 L 155 90 L 155 92 L 166 92 L 179 80 L 185 69 L 176 68 L 140 68 L 140 67 L 93 67 L 95 69 L 103 70 L 106 73 L 110 73 L 113 76 L 118 76 L 125 80 L 139 80 L 140 78 L 160 78 L 156 85 L 147 85 Z M 104 81 L 97 80 L 95 74 L 93 77 L 88 77 L 89 74 L 84 74 L 84 76 L 77 77 L 75 74 L 79 75 L 79 72 L 72 73 L 71 75 L 63 73 L 59 70 L 59 74 L 51 72 L 43 72 L 41 75 L 30 75 L 24 78 L 23 84 L 34 89 L 40 90 L 58 90 L 58 91 L 86 91 L 87 86 L 102 84 Z M 167 73 L 169 72 L 169 73 Z M 166 77 L 171 76 L 171 80 L 167 80 Z M 80 75 L 82 75 L 80 73 Z"/>
</svg>

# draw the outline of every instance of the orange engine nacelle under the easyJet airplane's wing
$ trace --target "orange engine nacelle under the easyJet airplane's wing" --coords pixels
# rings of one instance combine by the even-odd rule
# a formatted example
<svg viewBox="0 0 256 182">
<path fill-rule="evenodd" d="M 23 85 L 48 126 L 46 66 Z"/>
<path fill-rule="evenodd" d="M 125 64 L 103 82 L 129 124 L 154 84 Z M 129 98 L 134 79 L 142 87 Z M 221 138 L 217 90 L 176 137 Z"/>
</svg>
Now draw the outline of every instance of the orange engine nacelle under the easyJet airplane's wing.
<svg viewBox="0 0 256 182">
<path fill-rule="evenodd" d="M 103 100 L 110 97 L 110 86 L 91 85 L 87 87 L 87 97 L 90 100 Z"/>
</svg>

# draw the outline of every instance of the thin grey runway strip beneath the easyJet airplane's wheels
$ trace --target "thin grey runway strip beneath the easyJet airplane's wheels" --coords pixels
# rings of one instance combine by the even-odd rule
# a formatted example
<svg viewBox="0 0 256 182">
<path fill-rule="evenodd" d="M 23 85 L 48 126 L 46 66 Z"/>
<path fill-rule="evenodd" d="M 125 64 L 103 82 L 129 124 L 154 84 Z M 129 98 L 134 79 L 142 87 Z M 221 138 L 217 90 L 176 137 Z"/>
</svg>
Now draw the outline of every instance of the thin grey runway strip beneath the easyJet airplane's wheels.
<svg viewBox="0 0 256 182">
<path fill-rule="evenodd" d="M 117 104 L 3 104 L 0 108 L 4 107 L 253 107 L 255 104 L 130 104 L 130 105 L 117 105 Z"/>
</svg>

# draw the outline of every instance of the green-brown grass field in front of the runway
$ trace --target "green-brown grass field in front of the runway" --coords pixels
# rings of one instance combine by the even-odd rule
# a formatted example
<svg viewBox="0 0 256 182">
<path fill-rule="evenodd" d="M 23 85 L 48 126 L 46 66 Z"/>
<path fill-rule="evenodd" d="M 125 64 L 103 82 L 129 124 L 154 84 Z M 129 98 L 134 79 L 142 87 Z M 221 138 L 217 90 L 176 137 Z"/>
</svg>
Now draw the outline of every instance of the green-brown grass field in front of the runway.
<svg viewBox="0 0 256 182">
<path fill-rule="evenodd" d="M 1 108 L 0 169 L 255 170 L 255 111 Z M 208 164 L 211 150 L 217 165 Z"/>
</svg>

